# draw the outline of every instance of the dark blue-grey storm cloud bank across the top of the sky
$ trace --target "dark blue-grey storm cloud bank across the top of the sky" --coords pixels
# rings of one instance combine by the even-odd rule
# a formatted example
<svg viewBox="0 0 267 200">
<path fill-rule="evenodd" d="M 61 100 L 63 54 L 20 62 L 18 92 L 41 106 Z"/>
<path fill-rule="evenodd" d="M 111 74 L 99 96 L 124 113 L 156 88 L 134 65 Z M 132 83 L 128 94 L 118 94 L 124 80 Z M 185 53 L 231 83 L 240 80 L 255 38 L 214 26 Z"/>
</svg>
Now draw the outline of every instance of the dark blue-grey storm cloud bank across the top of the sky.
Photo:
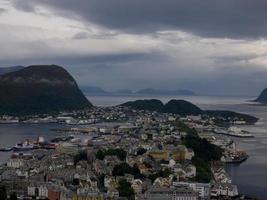
<svg viewBox="0 0 267 200">
<path fill-rule="evenodd" d="M 134 32 L 174 28 L 207 37 L 266 37 L 266 0 L 26 0 L 23 10 L 46 5 L 66 16 Z"/>
</svg>

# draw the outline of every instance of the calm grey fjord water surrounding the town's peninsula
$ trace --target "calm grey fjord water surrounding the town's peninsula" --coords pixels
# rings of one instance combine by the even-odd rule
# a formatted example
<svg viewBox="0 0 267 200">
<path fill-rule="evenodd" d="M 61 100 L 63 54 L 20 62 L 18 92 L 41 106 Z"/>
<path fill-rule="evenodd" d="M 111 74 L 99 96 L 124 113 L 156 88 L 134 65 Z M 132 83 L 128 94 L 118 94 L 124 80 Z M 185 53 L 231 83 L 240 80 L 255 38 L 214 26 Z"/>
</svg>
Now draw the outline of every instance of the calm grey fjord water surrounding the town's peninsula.
<svg viewBox="0 0 267 200">
<path fill-rule="evenodd" d="M 266 199 L 267 197 L 267 106 L 249 103 L 253 97 L 207 97 L 207 96 L 89 96 L 96 106 L 114 106 L 137 99 L 160 99 L 164 103 L 170 99 L 191 101 L 202 109 L 233 110 L 248 113 L 260 118 L 253 126 L 242 126 L 254 134 L 254 138 L 233 138 L 238 148 L 248 152 L 250 157 L 240 165 L 227 166 L 233 182 L 243 194 Z M 58 124 L 2 124 L 0 125 L 0 147 L 14 146 L 25 139 L 45 136 L 47 139 L 58 136 L 51 131 L 60 128 Z M 0 163 L 5 162 L 10 153 L 0 152 Z"/>
</svg>

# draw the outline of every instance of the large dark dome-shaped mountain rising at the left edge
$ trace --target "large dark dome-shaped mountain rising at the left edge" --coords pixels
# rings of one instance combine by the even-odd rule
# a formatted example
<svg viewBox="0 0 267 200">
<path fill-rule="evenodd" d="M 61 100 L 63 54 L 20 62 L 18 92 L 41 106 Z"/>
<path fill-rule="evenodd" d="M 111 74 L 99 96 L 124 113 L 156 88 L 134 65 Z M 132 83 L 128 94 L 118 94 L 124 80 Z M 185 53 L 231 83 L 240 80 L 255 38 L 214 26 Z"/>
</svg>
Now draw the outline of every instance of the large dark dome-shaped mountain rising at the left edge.
<svg viewBox="0 0 267 200">
<path fill-rule="evenodd" d="M 56 65 L 0 75 L 0 113 L 27 115 L 92 107 L 73 77 Z"/>
</svg>

